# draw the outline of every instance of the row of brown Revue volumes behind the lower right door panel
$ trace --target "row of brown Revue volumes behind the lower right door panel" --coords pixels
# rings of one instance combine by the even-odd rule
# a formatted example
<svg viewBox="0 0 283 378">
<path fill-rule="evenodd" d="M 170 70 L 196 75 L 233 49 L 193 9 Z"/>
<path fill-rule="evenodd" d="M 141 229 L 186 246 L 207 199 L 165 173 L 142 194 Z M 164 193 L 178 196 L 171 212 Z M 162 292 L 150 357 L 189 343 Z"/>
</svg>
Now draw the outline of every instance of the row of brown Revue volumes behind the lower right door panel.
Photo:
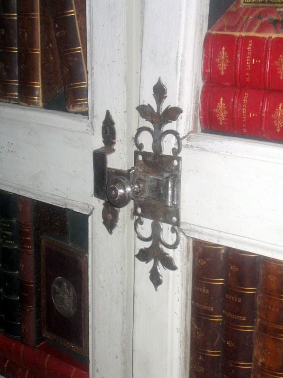
<svg viewBox="0 0 283 378">
<path fill-rule="evenodd" d="M 194 240 L 190 377 L 283 377 L 283 261 Z"/>
</svg>

